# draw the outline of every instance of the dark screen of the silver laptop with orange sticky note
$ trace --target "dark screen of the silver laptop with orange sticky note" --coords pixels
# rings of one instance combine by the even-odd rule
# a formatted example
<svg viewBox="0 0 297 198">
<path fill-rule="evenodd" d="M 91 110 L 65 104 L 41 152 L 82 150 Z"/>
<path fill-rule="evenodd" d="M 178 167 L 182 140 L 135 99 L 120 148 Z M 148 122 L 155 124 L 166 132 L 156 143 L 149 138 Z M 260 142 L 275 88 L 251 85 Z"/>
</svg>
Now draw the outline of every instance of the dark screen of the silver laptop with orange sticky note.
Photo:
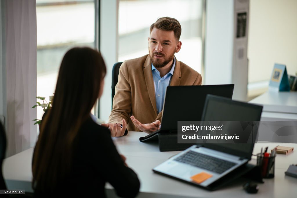
<svg viewBox="0 0 297 198">
<path fill-rule="evenodd" d="M 259 121 L 261 113 L 262 106 L 207 95 L 202 120 Z M 203 144 L 203 146 L 250 159 L 254 144 Z"/>
</svg>

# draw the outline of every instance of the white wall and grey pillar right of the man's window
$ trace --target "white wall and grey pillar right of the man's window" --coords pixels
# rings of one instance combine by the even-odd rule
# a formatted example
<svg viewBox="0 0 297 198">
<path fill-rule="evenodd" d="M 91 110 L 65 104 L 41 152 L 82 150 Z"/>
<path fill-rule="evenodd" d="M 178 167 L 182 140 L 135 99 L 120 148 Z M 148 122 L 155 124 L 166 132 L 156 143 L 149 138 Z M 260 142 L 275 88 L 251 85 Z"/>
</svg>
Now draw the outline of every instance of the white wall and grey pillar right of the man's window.
<svg viewBox="0 0 297 198">
<path fill-rule="evenodd" d="M 248 31 L 249 0 L 206 1 L 204 82 L 234 84 L 232 98 L 246 101 L 248 34 L 236 37 L 237 14 L 242 12 L 247 13 Z"/>
</svg>

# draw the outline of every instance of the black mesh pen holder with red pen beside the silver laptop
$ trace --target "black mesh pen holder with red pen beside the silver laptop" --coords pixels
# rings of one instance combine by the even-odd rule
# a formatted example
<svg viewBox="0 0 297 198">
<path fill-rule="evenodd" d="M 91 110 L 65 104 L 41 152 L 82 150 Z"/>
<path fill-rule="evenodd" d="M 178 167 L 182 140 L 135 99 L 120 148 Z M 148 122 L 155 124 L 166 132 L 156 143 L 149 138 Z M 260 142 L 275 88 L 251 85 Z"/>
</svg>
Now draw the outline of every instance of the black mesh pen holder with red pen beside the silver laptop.
<svg viewBox="0 0 297 198">
<path fill-rule="evenodd" d="M 274 178 L 274 156 L 264 156 L 261 153 L 257 154 L 257 166 L 261 168 L 263 178 Z"/>
</svg>

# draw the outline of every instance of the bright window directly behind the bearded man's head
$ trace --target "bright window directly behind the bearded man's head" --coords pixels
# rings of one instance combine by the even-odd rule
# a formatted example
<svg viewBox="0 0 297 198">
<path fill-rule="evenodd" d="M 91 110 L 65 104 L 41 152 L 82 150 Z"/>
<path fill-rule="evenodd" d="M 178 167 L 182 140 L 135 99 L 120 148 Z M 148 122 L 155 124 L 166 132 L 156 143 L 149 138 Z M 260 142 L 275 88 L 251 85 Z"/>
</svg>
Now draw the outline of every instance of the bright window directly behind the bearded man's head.
<svg viewBox="0 0 297 198">
<path fill-rule="evenodd" d="M 119 62 L 149 54 L 149 27 L 164 16 L 181 23 L 176 58 L 201 73 L 202 0 L 120 0 Z"/>
</svg>

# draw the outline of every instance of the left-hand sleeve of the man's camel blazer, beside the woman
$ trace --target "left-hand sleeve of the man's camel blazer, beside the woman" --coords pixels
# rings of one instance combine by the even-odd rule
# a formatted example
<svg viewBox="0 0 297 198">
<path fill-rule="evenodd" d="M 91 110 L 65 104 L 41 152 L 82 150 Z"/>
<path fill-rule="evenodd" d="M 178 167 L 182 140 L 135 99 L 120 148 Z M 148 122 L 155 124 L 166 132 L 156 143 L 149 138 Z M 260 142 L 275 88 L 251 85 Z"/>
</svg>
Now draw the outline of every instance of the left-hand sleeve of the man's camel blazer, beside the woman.
<svg viewBox="0 0 297 198">
<path fill-rule="evenodd" d="M 131 114 L 131 86 L 126 61 L 120 67 L 119 79 L 116 84 L 116 94 L 113 97 L 113 110 L 109 116 L 109 123 L 128 123 Z"/>
</svg>

